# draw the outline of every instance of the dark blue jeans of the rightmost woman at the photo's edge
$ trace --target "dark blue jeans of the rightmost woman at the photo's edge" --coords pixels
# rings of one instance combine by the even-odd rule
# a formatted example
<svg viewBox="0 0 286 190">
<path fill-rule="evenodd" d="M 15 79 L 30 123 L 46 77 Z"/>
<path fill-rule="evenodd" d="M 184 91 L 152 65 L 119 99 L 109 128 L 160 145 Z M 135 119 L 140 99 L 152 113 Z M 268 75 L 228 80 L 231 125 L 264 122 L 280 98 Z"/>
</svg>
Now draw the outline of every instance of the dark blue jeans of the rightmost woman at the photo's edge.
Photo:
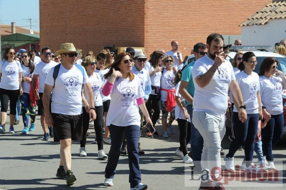
<svg viewBox="0 0 286 190">
<path fill-rule="evenodd" d="M 268 161 L 273 161 L 272 149 L 283 136 L 284 116 L 271 115 L 265 128 L 261 129 L 262 149 Z"/>
</svg>

